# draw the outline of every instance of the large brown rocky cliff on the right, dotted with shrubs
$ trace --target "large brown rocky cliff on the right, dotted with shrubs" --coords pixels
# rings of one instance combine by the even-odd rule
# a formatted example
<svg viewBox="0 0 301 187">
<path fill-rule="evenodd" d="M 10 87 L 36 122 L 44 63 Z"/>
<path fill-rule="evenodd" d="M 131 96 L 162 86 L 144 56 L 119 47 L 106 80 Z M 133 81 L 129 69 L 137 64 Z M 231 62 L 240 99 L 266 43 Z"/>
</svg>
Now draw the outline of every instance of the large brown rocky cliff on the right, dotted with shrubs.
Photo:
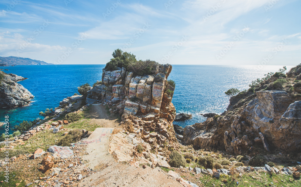
<svg viewBox="0 0 301 187">
<path fill-rule="evenodd" d="M 229 154 L 301 152 L 300 83 L 296 74 L 278 74 L 235 96 L 221 116 L 187 126 L 184 144 Z"/>
</svg>

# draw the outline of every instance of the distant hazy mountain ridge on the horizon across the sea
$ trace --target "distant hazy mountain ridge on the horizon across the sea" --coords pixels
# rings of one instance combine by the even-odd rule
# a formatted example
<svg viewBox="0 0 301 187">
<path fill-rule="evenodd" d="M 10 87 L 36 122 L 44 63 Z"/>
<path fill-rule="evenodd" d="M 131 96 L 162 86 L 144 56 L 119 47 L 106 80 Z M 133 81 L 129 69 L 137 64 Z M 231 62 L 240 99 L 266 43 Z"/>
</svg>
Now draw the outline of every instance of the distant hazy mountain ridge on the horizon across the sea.
<svg viewBox="0 0 301 187">
<path fill-rule="evenodd" d="M 50 65 L 50 64 L 44 61 L 22 58 L 17 56 L 9 56 L 9 57 L 0 56 L 0 66 L 13 66 L 13 65 Z"/>
</svg>

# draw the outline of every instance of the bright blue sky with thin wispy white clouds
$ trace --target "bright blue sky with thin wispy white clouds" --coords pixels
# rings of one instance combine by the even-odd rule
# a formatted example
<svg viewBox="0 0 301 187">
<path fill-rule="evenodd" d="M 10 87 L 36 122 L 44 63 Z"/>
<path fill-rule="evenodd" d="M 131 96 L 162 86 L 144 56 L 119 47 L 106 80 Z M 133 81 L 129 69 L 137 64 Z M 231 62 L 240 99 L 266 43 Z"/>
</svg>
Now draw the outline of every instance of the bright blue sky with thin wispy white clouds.
<svg viewBox="0 0 301 187">
<path fill-rule="evenodd" d="M 300 0 L 0 0 L 0 56 L 106 64 L 297 65 Z"/>
</svg>

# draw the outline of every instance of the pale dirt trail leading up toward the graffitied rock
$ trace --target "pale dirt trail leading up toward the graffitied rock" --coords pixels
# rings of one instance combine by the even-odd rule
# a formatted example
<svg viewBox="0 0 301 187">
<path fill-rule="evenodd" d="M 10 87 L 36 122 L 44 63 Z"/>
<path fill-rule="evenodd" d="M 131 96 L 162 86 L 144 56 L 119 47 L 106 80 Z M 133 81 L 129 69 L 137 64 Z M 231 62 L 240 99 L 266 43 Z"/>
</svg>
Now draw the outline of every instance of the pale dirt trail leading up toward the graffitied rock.
<svg viewBox="0 0 301 187">
<path fill-rule="evenodd" d="M 92 122 L 97 122 L 104 128 L 96 128 L 87 139 L 88 146 L 86 151 L 88 155 L 84 155 L 83 160 L 88 160 L 88 163 L 78 168 L 78 170 L 82 170 L 83 167 L 92 170 L 104 169 L 83 179 L 78 187 L 182 187 L 181 184 L 160 168 L 152 170 L 150 167 L 147 167 L 143 169 L 142 167 L 136 168 L 125 163 L 115 162 L 113 156 L 109 154 L 109 140 L 114 128 L 119 127 L 119 123 L 107 116 L 106 110 L 102 105 L 92 106 L 89 115 L 92 117 Z"/>
</svg>

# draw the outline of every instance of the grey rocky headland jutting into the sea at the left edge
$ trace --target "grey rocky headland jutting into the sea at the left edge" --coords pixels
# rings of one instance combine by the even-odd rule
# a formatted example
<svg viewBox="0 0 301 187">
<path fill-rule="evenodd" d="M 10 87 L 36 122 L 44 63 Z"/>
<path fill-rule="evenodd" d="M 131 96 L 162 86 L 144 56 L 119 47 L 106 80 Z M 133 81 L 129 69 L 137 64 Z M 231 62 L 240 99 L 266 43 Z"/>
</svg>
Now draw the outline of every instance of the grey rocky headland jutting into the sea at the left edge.
<svg viewBox="0 0 301 187">
<path fill-rule="evenodd" d="M 34 96 L 18 81 L 26 80 L 15 74 L 6 74 L 0 71 L 0 107 L 26 106 Z"/>
</svg>

